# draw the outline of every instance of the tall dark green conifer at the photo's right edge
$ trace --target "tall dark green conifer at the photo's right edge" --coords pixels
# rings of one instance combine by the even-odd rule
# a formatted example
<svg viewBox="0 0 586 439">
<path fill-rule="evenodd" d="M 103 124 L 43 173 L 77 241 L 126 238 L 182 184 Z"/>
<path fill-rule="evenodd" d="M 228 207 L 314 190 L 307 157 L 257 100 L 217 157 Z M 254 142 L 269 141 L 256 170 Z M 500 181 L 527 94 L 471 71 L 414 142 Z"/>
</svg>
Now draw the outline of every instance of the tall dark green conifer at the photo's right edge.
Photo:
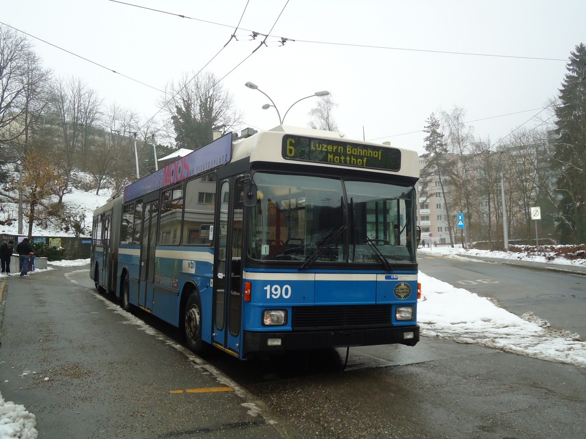
<svg viewBox="0 0 586 439">
<path fill-rule="evenodd" d="M 558 231 L 561 243 L 586 243 L 586 46 L 580 43 L 567 63 L 558 105 L 554 166 L 557 191 Z"/>
</svg>

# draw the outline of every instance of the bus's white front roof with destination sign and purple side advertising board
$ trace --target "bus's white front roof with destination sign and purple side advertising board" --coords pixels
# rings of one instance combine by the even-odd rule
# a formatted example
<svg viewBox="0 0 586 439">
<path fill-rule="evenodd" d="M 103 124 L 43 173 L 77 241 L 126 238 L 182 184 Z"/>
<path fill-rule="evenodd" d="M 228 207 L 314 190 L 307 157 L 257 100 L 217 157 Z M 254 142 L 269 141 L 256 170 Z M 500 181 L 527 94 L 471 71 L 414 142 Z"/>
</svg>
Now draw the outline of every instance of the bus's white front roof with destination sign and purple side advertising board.
<svg viewBox="0 0 586 439">
<path fill-rule="evenodd" d="M 232 142 L 232 135 L 228 133 L 129 184 L 124 188 L 124 202 L 246 157 L 251 163 L 353 167 L 419 178 L 418 155 L 413 150 L 349 140 L 339 132 L 278 125 L 236 142 Z"/>
</svg>

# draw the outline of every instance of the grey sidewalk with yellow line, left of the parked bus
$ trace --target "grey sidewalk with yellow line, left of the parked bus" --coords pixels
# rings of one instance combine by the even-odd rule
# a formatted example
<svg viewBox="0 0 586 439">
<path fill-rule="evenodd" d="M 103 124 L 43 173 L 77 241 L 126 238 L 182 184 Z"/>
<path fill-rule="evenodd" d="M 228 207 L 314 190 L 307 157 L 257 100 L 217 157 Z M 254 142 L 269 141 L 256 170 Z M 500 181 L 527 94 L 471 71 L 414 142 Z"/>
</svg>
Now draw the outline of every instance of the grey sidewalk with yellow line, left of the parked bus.
<svg viewBox="0 0 586 439">
<path fill-rule="evenodd" d="M 87 268 L 0 284 L 0 392 L 39 437 L 281 437 L 260 400 L 88 284 Z"/>
</svg>

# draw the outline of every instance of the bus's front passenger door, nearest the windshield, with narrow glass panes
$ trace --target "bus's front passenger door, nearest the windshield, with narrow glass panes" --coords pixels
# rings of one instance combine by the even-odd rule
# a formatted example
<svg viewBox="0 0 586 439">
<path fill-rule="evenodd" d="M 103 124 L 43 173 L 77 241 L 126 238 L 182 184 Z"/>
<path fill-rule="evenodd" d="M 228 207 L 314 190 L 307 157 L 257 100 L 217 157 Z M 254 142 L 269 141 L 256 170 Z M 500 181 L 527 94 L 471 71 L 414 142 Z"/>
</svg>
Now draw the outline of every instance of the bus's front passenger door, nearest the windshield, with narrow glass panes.
<svg viewBox="0 0 586 439">
<path fill-rule="evenodd" d="M 239 245 L 242 236 L 243 184 L 231 193 L 228 180 L 222 183 L 219 212 L 214 228 L 214 309 L 213 342 L 238 356 L 241 344 L 241 266 Z M 241 244 L 241 243 L 240 243 Z"/>
</svg>

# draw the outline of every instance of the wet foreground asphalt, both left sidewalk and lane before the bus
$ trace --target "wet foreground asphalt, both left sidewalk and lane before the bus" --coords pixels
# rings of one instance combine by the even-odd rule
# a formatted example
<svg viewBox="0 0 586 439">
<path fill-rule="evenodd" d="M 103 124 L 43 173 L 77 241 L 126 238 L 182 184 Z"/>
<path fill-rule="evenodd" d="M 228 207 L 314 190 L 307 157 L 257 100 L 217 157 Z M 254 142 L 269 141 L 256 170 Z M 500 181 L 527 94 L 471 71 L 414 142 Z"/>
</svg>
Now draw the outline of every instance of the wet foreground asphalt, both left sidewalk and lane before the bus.
<svg viewBox="0 0 586 439">
<path fill-rule="evenodd" d="M 342 349 L 199 359 L 72 271 L 11 277 L 0 301 L 0 391 L 40 437 L 586 437 L 586 369 L 430 338 L 351 348 L 345 371 Z"/>
</svg>

